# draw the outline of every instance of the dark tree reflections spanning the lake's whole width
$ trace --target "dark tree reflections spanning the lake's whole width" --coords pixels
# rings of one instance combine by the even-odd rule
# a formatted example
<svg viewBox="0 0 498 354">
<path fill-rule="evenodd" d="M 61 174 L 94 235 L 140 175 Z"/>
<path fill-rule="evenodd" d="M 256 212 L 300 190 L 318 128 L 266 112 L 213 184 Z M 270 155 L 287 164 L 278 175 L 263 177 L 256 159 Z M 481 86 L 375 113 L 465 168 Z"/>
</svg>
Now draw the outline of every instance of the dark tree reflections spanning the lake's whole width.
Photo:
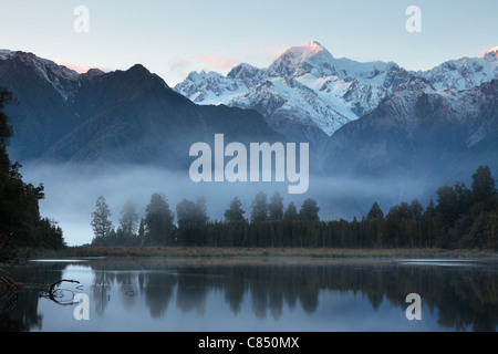
<svg viewBox="0 0 498 354">
<path fill-rule="evenodd" d="M 53 270 L 53 264 L 51 267 Z M 30 279 L 38 283 L 55 281 L 62 275 L 64 266 L 60 267 L 60 272 L 38 268 L 30 272 Z M 98 316 L 105 316 L 106 308 L 114 300 L 111 293 L 113 296 L 117 293 L 124 310 L 138 305 L 138 299 L 143 299 L 152 319 L 168 317 L 167 310 L 173 304 L 183 313 L 194 311 L 203 316 L 209 296 L 221 294 L 219 299 L 235 315 L 249 303 L 257 319 L 271 316 L 279 321 L 287 309 L 298 305 L 308 314 L 315 313 L 323 291 L 363 295 L 375 312 L 386 301 L 404 311 L 406 295 L 416 292 L 424 301 L 423 306 L 438 317 L 440 327 L 496 331 L 498 324 L 496 268 L 484 271 L 469 267 L 463 271 L 457 267 L 403 264 L 267 264 L 142 267 L 139 271 L 113 268 L 108 271 L 95 264 L 92 271 L 92 306 Z M 10 320 L 0 314 L 0 330 L 40 329 L 43 319 L 38 315 L 38 292 L 28 290 Z"/>
</svg>

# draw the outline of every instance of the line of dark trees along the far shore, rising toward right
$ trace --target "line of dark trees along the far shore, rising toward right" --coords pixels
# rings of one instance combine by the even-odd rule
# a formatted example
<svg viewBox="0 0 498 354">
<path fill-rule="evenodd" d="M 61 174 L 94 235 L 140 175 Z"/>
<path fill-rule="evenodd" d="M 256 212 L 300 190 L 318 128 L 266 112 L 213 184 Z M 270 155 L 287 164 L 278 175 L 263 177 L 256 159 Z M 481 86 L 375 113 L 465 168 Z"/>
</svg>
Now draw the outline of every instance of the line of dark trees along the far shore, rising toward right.
<svg viewBox="0 0 498 354">
<path fill-rule="evenodd" d="M 101 196 L 92 214 L 94 247 L 209 247 L 294 249 L 498 249 L 498 197 L 488 166 L 479 166 L 471 187 L 463 183 L 437 189 L 436 202 L 424 208 L 416 199 L 393 206 L 384 215 L 377 202 L 362 219 L 324 221 L 319 206 L 308 198 L 298 210 L 287 208 L 274 192 L 268 200 L 258 194 L 250 216 L 245 217 L 238 197 L 228 206 L 224 220 L 209 220 L 206 199 L 181 200 L 176 218 L 167 198 L 153 194 L 138 220 L 128 200 L 120 226 L 110 220 L 111 210 Z"/>
</svg>

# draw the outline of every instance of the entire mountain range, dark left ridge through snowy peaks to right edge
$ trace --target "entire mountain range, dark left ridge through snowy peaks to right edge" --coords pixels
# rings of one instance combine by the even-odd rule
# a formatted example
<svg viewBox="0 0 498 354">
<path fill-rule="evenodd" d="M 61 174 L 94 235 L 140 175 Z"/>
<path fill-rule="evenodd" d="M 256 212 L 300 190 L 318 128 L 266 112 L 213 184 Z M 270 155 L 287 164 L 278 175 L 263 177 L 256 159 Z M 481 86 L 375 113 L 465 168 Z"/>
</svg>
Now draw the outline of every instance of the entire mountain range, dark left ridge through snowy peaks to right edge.
<svg viewBox="0 0 498 354">
<path fill-rule="evenodd" d="M 266 69 L 193 72 L 175 87 L 141 64 L 79 74 L 0 50 L 0 86 L 17 98 L 7 110 L 9 153 L 21 163 L 186 170 L 190 145 L 217 133 L 227 144 L 307 142 L 313 174 L 373 189 L 382 181 L 396 195 L 386 204 L 468 180 L 479 165 L 498 170 L 498 46 L 414 72 L 335 59 L 310 42 Z M 419 181 L 424 188 L 414 187 Z M 364 211 L 376 197 L 359 202 L 354 188 L 340 202 Z"/>
</svg>

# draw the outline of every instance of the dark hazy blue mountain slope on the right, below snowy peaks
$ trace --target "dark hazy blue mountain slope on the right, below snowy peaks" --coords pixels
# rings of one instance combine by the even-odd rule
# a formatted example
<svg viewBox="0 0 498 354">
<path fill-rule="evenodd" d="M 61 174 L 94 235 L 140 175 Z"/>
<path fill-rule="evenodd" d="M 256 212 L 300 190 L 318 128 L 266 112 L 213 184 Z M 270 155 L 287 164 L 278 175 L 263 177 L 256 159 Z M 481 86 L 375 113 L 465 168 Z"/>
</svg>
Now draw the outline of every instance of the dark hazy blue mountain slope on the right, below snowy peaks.
<svg viewBox="0 0 498 354">
<path fill-rule="evenodd" d="M 468 179 L 479 164 L 498 170 L 491 143 L 497 133 L 498 80 L 438 91 L 413 77 L 330 138 L 325 166 L 365 179 L 453 184 Z"/>
</svg>

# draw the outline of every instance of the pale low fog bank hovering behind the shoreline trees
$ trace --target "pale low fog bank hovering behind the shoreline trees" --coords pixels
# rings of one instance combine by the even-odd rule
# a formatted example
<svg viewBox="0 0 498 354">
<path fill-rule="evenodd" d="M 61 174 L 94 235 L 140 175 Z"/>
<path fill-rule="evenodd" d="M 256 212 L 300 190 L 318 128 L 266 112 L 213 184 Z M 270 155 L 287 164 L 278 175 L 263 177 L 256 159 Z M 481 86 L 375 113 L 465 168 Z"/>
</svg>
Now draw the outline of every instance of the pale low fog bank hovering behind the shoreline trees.
<svg viewBox="0 0 498 354">
<path fill-rule="evenodd" d="M 251 202 L 260 191 L 266 192 L 268 202 L 279 191 L 283 197 L 283 206 L 293 201 L 299 210 L 307 198 L 317 200 L 322 220 L 352 220 L 365 216 L 372 204 L 377 201 L 384 214 L 401 201 L 417 198 L 427 206 L 433 186 L 421 181 L 369 181 L 351 178 L 325 178 L 310 176 L 310 188 L 307 194 L 288 194 L 289 183 L 193 183 L 188 170 L 172 171 L 151 166 L 107 166 L 94 165 L 40 165 L 25 163 L 21 169 L 23 179 L 33 185 L 43 184 L 45 199 L 40 201 L 40 211 L 59 222 L 64 231 L 69 246 L 90 243 L 93 231 L 90 226 L 91 214 L 95 210 L 95 201 L 104 196 L 113 214 L 112 221 L 117 228 L 121 210 L 131 199 L 136 205 L 139 218 L 151 196 L 162 192 L 169 207 L 176 214 L 176 205 L 184 198 L 196 200 L 205 196 L 208 215 L 211 220 L 224 220 L 224 212 L 230 201 L 239 197 L 246 218 L 250 218 Z"/>
</svg>

